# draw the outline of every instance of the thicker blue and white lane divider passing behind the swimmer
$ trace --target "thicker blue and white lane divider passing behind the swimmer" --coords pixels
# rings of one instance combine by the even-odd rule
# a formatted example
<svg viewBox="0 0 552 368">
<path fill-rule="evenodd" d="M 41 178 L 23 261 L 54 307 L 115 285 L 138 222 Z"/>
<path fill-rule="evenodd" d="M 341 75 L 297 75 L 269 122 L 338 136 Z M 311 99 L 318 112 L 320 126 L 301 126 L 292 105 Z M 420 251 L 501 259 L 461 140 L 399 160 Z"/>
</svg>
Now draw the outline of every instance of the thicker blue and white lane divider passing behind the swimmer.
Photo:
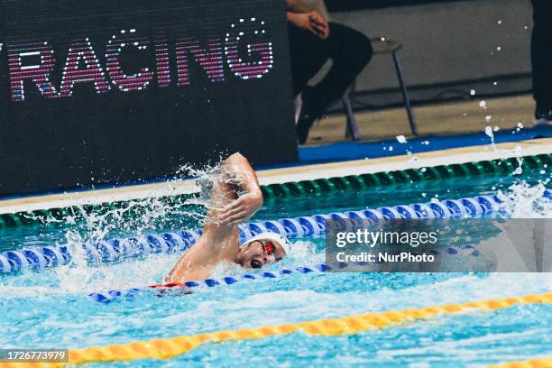
<svg viewBox="0 0 552 368">
<path fill-rule="evenodd" d="M 552 199 L 552 190 L 546 189 L 545 198 Z M 244 242 L 264 231 L 287 237 L 323 235 L 325 221 L 329 219 L 368 219 L 373 223 L 396 218 L 450 218 L 476 217 L 500 213 L 502 200 L 497 195 L 474 198 L 446 199 L 395 207 L 379 207 L 359 211 L 333 212 L 327 215 L 299 216 L 279 220 L 261 221 L 240 225 L 240 241 Z M 85 243 L 82 247 L 88 262 L 116 262 L 141 258 L 151 253 L 175 253 L 188 249 L 201 236 L 200 230 L 140 235 L 129 238 Z M 24 269 L 44 269 L 67 264 L 71 254 L 67 246 L 23 248 L 0 253 L 0 271 L 14 272 Z"/>
</svg>

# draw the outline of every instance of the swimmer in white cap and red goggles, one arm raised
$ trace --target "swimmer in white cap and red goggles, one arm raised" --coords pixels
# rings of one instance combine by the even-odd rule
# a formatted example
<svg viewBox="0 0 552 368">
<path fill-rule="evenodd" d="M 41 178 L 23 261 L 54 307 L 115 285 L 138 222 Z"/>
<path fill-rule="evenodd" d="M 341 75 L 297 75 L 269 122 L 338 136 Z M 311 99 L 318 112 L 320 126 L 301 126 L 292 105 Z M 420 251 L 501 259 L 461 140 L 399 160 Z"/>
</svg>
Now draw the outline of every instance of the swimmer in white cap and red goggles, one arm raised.
<svg viewBox="0 0 552 368">
<path fill-rule="evenodd" d="M 182 255 L 165 282 L 207 279 L 220 262 L 258 269 L 290 253 L 290 241 L 276 233 L 262 233 L 245 244 L 239 243 L 237 225 L 262 207 L 257 175 L 242 154 L 234 153 L 222 163 L 221 178 L 214 186 L 203 235 Z"/>
</svg>

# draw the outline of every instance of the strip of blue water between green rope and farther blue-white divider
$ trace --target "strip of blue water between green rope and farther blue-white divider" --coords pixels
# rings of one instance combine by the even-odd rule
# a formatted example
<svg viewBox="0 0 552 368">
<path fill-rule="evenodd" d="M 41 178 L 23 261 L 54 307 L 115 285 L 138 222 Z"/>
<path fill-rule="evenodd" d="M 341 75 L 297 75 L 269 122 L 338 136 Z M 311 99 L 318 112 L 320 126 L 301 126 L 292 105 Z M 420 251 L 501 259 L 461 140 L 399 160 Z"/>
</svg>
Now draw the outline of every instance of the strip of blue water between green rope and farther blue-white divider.
<svg viewBox="0 0 552 368">
<path fill-rule="evenodd" d="M 531 170 L 516 176 L 489 176 L 474 179 L 443 179 L 410 185 L 390 185 L 361 192 L 345 192 L 316 197 L 276 199 L 265 203 L 254 220 L 309 216 L 319 213 L 396 206 L 428 202 L 431 198 L 464 198 L 510 191 L 511 185 L 526 182 L 529 186 L 547 182 L 551 168 L 542 172 Z M 168 184 L 170 188 L 170 183 Z M 65 244 L 68 233 L 83 239 L 129 236 L 140 232 L 175 231 L 195 228 L 204 210 L 189 206 L 167 206 L 163 201 L 148 198 L 133 201 L 131 205 L 107 215 L 91 214 L 86 221 L 76 223 L 51 222 L 41 226 L 21 226 L 0 229 L 0 252 L 27 246 Z"/>
</svg>

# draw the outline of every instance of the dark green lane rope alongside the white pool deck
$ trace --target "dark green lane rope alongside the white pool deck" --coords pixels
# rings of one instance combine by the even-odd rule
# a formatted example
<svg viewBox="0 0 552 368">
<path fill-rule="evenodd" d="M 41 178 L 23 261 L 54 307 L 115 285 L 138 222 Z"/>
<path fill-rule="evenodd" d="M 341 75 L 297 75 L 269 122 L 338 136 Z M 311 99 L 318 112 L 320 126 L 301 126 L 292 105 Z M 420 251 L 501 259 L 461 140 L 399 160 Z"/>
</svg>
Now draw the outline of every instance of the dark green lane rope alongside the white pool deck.
<svg viewBox="0 0 552 368">
<path fill-rule="evenodd" d="M 521 169 L 524 172 L 543 170 L 552 167 L 552 154 L 538 154 L 520 158 Z M 520 166 L 519 159 L 510 158 L 491 161 L 474 161 L 466 163 L 454 163 L 450 165 L 438 165 L 423 169 L 406 169 L 382 171 L 373 174 L 347 175 L 345 177 L 333 177 L 328 179 L 290 181 L 281 184 L 269 184 L 261 186 L 262 197 L 265 201 L 276 198 L 294 198 L 302 196 L 323 196 L 331 193 L 359 192 L 376 187 L 417 183 L 438 179 L 468 178 L 481 175 L 508 175 Z M 161 197 L 159 200 L 167 205 L 187 205 L 190 198 L 197 198 L 198 193 Z M 44 224 L 51 219 L 63 221 L 68 216 L 76 218 L 91 213 L 106 214 L 106 212 L 119 209 L 128 205 L 127 201 L 103 203 L 100 205 L 84 205 L 82 207 L 51 208 L 47 210 L 35 210 L 32 212 L 18 212 L 15 214 L 0 215 L 0 229 L 20 225 Z M 132 209 L 135 212 L 140 209 Z M 131 214 L 132 215 L 132 214 Z"/>
</svg>

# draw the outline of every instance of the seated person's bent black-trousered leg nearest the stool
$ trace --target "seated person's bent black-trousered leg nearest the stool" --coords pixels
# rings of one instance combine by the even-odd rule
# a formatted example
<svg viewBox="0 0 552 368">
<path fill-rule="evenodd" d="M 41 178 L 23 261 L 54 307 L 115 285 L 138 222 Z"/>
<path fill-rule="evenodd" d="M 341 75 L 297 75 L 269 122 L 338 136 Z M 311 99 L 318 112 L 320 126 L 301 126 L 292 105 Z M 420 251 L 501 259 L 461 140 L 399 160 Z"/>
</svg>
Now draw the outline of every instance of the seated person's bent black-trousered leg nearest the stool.
<svg viewBox="0 0 552 368">
<path fill-rule="evenodd" d="M 299 143 L 307 141 L 308 130 L 317 116 L 343 96 L 373 55 L 370 39 L 361 32 L 337 23 L 330 23 L 329 37 L 316 52 L 331 59 L 332 67 L 325 78 L 303 94 L 303 108 L 297 125 Z"/>
</svg>

